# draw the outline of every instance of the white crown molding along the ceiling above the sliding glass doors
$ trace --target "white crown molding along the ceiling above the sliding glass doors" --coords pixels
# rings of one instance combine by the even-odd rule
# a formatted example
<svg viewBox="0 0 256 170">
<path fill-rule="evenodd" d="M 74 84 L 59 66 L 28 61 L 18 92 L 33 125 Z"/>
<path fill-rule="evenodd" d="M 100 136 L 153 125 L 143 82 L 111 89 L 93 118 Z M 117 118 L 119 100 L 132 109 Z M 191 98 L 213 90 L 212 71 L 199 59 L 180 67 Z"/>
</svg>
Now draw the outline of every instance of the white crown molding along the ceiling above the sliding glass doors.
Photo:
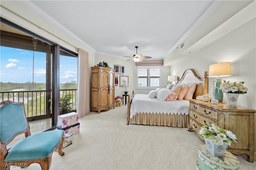
<svg viewBox="0 0 256 170">
<path fill-rule="evenodd" d="M 85 45 L 86 47 L 88 47 L 89 49 L 91 49 L 92 51 L 96 52 L 96 50 L 94 48 L 92 48 L 90 45 L 88 45 L 86 42 L 82 41 L 82 39 L 78 38 L 74 33 L 72 33 L 70 30 L 68 30 L 66 27 L 64 27 L 62 24 L 60 24 L 58 21 L 56 21 L 54 18 L 52 18 L 51 16 L 49 16 L 46 12 L 44 12 L 41 8 L 39 8 L 38 6 L 36 6 L 33 2 L 31 1 L 26 1 L 26 0 L 22 0 L 20 1 L 22 2 L 24 5 L 26 5 L 28 8 L 30 8 L 31 10 L 33 10 L 34 12 L 36 12 L 37 14 L 39 14 L 40 16 L 42 16 L 45 20 L 49 21 L 50 23 L 52 23 L 53 25 L 55 25 L 56 27 L 58 27 L 58 29 L 64 31 L 64 33 L 70 35 L 72 38 L 74 38 L 76 41 L 82 43 L 83 45 Z M 59 37 L 58 37 L 59 38 Z M 59 38 L 61 39 L 61 38 Z M 64 40 L 63 40 L 64 41 Z"/>
</svg>

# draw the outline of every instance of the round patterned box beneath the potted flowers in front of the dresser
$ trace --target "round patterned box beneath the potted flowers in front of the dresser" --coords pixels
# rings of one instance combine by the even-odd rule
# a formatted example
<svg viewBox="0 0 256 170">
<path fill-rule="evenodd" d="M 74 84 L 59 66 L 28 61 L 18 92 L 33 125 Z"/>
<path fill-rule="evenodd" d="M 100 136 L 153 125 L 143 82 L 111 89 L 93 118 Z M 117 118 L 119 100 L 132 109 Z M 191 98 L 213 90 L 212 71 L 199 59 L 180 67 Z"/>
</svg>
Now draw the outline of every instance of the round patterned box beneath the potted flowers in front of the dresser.
<svg viewBox="0 0 256 170">
<path fill-rule="evenodd" d="M 236 156 L 225 150 L 225 157 L 213 156 L 206 150 L 206 145 L 198 147 L 198 163 L 201 170 L 239 170 L 240 162 Z"/>
</svg>

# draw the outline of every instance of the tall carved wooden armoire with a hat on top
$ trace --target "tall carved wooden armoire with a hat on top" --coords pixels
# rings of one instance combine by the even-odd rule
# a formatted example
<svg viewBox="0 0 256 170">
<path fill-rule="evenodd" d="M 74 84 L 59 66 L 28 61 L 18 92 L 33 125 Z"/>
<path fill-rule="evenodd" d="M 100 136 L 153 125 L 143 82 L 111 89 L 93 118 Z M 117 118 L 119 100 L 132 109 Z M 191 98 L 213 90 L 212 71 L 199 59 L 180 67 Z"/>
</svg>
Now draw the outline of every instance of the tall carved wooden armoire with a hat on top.
<svg viewBox="0 0 256 170">
<path fill-rule="evenodd" d="M 115 108 L 115 69 L 103 66 L 92 68 L 91 111 Z"/>
</svg>

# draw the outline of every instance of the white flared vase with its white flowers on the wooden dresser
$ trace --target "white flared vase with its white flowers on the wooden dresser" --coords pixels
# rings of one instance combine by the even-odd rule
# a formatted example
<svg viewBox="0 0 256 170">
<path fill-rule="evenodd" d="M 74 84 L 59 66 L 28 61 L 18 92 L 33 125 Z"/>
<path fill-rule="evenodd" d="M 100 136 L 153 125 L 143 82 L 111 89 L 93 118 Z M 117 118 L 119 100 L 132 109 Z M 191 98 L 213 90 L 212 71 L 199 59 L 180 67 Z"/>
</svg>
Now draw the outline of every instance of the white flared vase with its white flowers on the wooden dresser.
<svg viewBox="0 0 256 170">
<path fill-rule="evenodd" d="M 226 80 L 220 85 L 220 89 L 227 95 L 228 107 L 237 107 L 236 102 L 239 95 L 248 91 L 248 88 L 244 87 L 244 82 L 226 82 Z"/>
</svg>

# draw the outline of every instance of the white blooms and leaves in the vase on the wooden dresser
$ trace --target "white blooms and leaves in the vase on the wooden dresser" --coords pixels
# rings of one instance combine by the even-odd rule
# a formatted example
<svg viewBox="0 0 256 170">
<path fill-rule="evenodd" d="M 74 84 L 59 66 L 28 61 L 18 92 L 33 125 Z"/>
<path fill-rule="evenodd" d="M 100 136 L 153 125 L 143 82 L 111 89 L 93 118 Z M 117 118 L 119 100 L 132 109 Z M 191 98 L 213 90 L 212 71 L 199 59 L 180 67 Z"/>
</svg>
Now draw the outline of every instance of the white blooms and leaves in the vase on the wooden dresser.
<svg viewBox="0 0 256 170">
<path fill-rule="evenodd" d="M 222 84 L 220 84 L 220 90 L 225 93 L 238 93 L 244 94 L 247 93 L 248 88 L 244 87 L 244 82 L 229 82 L 224 80 Z"/>
</svg>

